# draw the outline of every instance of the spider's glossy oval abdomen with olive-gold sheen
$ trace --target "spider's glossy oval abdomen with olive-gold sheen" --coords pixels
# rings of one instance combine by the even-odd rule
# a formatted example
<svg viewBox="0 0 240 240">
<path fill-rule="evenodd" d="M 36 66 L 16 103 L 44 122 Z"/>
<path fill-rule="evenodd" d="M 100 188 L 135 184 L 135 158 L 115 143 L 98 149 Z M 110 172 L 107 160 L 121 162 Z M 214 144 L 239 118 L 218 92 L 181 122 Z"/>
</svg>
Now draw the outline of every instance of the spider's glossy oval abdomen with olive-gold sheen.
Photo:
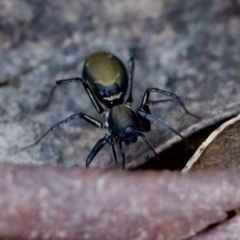
<svg viewBox="0 0 240 240">
<path fill-rule="evenodd" d="M 124 102 L 128 74 L 116 56 L 107 52 L 90 55 L 83 67 L 83 78 L 106 107 L 111 108 Z"/>
</svg>

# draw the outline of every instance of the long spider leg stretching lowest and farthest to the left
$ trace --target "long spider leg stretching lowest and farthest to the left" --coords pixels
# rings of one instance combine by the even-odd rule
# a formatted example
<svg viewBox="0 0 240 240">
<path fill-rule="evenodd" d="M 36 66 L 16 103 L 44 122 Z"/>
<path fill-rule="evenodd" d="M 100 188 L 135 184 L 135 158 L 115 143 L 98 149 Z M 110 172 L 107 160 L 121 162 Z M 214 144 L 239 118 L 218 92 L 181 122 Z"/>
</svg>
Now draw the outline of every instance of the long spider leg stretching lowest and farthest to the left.
<svg viewBox="0 0 240 240">
<path fill-rule="evenodd" d="M 98 128 L 104 128 L 103 123 L 99 122 L 98 120 L 88 116 L 87 114 L 84 113 L 76 113 L 71 115 L 70 117 L 62 120 L 61 122 L 53 125 L 51 128 L 49 128 L 39 139 L 37 139 L 37 141 L 35 141 L 33 144 L 26 146 L 24 148 L 21 148 L 21 151 L 26 150 L 30 147 L 33 147 L 35 145 L 37 145 L 45 136 L 47 136 L 47 134 L 51 131 L 54 131 L 55 129 L 59 128 L 61 125 L 68 123 L 70 121 L 72 121 L 73 119 L 76 118 L 83 118 L 84 120 L 86 120 L 87 122 L 91 123 L 93 126 L 98 127 Z"/>
</svg>

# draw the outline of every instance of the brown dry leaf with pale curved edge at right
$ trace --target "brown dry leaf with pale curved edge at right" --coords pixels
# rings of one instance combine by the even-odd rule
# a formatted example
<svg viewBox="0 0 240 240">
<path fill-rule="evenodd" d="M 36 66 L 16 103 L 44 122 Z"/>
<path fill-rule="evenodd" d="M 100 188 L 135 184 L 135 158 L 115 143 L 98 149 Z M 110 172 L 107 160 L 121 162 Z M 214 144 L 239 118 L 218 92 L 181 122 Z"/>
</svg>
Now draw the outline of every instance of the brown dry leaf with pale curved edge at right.
<svg viewBox="0 0 240 240">
<path fill-rule="evenodd" d="M 240 115 L 222 124 L 198 148 L 184 172 L 236 168 L 240 164 Z"/>
</svg>

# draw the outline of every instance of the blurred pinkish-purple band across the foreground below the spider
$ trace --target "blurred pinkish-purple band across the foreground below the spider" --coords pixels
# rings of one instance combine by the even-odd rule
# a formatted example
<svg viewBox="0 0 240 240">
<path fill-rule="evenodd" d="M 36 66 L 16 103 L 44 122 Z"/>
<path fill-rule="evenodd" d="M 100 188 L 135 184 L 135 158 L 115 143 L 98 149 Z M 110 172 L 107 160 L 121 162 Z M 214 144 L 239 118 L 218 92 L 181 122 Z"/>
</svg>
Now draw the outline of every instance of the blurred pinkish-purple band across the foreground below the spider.
<svg viewBox="0 0 240 240">
<path fill-rule="evenodd" d="M 240 207 L 239 175 L 2 164 L 0 237 L 183 239 Z"/>
</svg>

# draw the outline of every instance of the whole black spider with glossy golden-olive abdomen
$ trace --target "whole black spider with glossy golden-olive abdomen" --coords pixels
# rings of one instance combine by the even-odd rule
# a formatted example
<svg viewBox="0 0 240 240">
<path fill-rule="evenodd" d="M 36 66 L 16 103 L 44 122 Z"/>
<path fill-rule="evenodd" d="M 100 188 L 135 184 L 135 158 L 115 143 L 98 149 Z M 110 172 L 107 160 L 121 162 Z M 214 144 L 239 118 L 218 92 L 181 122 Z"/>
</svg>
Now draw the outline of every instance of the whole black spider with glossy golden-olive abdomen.
<svg viewBox="0 0 240 240">
<path fill-rule="evenodd" d="M 134 65 L 133 57 L 131 57 L 128 61 L 127 70 L 122 61 L 111 53 L 96 52 L 90 55 L 85 61 L 82 78 L 76 77 L 56 81 L 56 85 L 52 88 L 46 105 L 49 104 L 50 99 L 58 86 L 74 81 L 80 82 L 84 86 L 96 111 L 99 114 L 105 113 L 106 121 L 102 123 L 82 112 L 73 114 L 52 126 L 33 144 L 22 148 L 22 150 L 37 145 L 49 132 L 76 118 L 82 118 L 97 128 L 107 129 L 105 136 L 98 140 L 89 153 L 86 159 L 86 167 L 90 165 L 98 152 L 108 143 L 111 146 L 112 158 L 116 166 L 118 166 L 118 159 L 115 145 L 119 144 L 122 155 L 122 168 L 124 169 L 125 152 L 122 143 L 124 142 L 128 145 L 130 143 L 137 142 L 138 137 L 141 137 L 155 156 L 157 156 L 154 148 L 142 133 L 149 132 L 151 130 L 151 122 L 163 125 L 187 142 L 187 140 L 178 131 L 150 113 L 149 105 L 166 101 L 160 100 L 150 102 L 150 94 L 152 92 L 157 92 L 171 97 L 171 99 L 168 99 L 167 101 L 177 101 L 187 114 L 197 117 L 187 110 L 184 103 L 177 95 L 159 88 L 148 88 L 142 97 L 139 108 L 136 111 L 132 109 Z M 104 105 L 107 109 L 105 110 L 102 105 Z"/>
</svg>

